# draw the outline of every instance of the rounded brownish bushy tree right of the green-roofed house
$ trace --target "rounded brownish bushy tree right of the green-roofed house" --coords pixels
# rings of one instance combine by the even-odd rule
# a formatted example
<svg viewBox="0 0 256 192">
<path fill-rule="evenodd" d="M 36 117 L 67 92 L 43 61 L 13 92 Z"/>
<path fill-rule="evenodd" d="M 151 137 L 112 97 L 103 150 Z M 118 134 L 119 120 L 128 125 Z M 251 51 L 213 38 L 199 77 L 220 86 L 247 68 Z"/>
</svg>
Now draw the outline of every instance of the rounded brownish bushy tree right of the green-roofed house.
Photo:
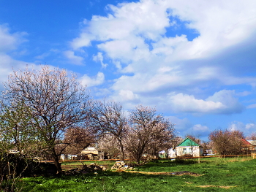
<svg viewBox="0 0 256 192">
<path fill-rule="evenodd" d="M 230 131 L 225 129 L 212 131 L 209 139 L 219 155 L 236 155 L 241 150 L 241 139 L 244 134 L 241 131 Z"/>
</svg>

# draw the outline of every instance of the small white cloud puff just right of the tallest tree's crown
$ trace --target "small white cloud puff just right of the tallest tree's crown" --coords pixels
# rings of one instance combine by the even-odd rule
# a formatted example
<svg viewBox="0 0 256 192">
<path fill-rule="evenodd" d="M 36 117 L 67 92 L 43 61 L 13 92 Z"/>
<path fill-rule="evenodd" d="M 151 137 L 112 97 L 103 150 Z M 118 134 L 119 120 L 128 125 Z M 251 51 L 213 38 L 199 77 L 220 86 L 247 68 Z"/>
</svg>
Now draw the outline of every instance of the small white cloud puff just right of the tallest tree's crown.
<svg viewBox="0 0 256 192">
<path fill-rule="evenodd" d="M 84 74 L 83 77 L 80 77 L 81 84 L 87 87 L 101 85 L 104 80 L 105 75 L 102 72 L 98 72 L 96 77 L 89 77 L 87 74 Z"/>
</svg>

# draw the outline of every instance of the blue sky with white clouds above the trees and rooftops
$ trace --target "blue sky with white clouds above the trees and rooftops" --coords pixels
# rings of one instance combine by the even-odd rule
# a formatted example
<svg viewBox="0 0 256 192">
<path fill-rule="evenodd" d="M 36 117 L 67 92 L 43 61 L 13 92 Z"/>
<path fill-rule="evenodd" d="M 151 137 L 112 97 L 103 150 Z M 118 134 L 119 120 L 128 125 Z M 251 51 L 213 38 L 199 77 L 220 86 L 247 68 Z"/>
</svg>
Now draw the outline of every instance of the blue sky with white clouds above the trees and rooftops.
<svg viewBox="0 0 256 192">
<path fill-rule="evenodd" d="M 255 0 L 0 1 L 0 81 L 45 64 L 181 137 L 256 132 Z"/>
</svg>

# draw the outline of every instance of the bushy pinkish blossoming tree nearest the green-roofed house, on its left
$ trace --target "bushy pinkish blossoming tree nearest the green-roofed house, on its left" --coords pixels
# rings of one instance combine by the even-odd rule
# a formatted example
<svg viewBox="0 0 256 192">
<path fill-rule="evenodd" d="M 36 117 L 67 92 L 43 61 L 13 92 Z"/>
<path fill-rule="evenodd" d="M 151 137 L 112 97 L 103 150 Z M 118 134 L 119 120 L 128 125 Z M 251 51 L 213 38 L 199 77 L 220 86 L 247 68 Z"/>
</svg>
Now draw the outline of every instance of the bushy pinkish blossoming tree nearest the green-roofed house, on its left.
<svg viewBox="0 0 256 192">
<path fill-rule="evenodd" d="M 156 150 L 157 142 L 166 141 L 173 135 L 173 124 L 157 115 L 154 108 L 139 105 L 130 111 L 126 148 L 138 164 L 147 150 Z"/>
</svg>

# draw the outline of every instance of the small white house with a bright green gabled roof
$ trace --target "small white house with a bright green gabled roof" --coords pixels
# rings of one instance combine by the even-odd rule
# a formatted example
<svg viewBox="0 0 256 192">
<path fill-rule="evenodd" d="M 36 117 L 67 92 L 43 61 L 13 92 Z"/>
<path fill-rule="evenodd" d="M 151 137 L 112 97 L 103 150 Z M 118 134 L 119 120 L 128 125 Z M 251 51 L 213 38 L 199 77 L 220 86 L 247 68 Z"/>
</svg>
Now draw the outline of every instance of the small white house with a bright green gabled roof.
<svg viewBox="0 0 256 192">
<path fill-rule="evenodd" d="M 203 155 L 203 147 L 188 137 L 176 146 L 176 155 L 192 155 L 198 157 Z"/>
</svg>

